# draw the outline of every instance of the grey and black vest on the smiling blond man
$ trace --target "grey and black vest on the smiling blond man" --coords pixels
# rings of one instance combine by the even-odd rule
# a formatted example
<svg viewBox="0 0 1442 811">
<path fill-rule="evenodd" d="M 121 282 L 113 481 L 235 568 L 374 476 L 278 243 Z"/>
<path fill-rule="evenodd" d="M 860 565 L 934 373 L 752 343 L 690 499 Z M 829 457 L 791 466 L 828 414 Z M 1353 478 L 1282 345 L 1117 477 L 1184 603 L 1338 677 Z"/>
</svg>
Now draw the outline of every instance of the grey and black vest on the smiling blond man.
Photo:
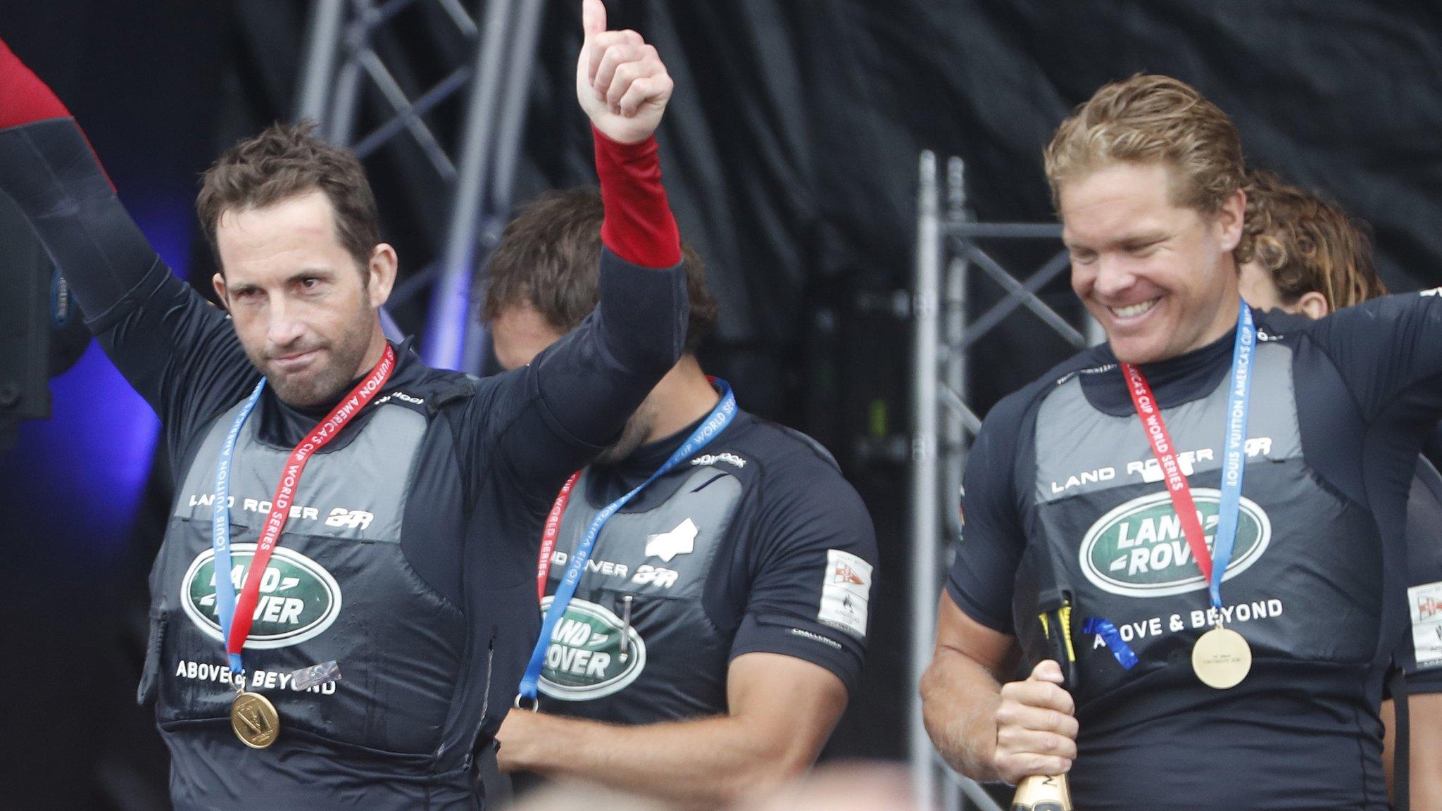
<svg viewBox="0 0 1442 811">
<path fill-rule="evenodd" d="M 1227 625 L 1252 645 L 1253 675 L 1244 684 L 1275 687 L 1286 681 L 1276 672 L 1304 667 L 1331 674 L 1338 688 L 1360 685 L 1381 618 L 1379 532 L 1370 512 L 1325 486 L 1304 460 L 1292 349 L 1260 343 L 1256 358 L 1242 514 L 1221 587 Z M 1012 608 L 1024 649 L 1037 661 L 1051 657 L 1037 618 L 1047 608 L 1043 595 L 1060 589 L 1070 597 L 1079 713 L 1115 701 L 1115 717 L 1135 703 L 1129 685 L 1195 681 L 1191 648 L 1213 618 L 1138 417 L 1102 413 L 1083 393 L 1082 375 L 1096 372 L 1116 374 L 1105 367 L 1063 377 L 1034 410 L 1035 468 L 1017 473 L 1018 486 L 1031 492 Z M 1208 547 L 1227 382 L 1164 410 Z M 1133 670 L 1079 634 L 1092 616 L 1119 628 L 1139 658 Z M 1269 677 L 1269 668 L 1279 670 Z"/>
</svg>

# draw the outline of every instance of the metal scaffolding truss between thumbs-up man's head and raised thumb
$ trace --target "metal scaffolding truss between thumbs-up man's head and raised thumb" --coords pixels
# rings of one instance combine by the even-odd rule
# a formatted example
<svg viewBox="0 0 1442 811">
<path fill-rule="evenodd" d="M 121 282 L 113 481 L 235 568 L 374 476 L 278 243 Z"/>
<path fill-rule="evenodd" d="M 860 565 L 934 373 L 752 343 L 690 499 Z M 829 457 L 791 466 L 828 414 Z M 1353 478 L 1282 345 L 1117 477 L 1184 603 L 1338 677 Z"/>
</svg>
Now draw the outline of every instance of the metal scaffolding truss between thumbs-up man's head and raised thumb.
<svg viewBox="0 0 1442 811">
<path fill-rule="evenodd" d="M 437 42 L 428 56 L 447 58 L 450 71 L 433 87 L 407 95 L 401 75 L 414 71 L 391 63 L 373 46 L 382 26 L 412 6 L 430 6 Z M 446 199 L 448 224 L 431 267 L 398 286 L 391 300 L 430 289 L 423 355 L 435 367 L 477 371 L 485 332 L 469 317 L 470 279 L 480 237 L 492 221 L 505 218 L 525 131 L 531 72 L 536 58 L 544 0 L 486 0 L 485 19 L 461 0 L 314 0 L 306 36 L 306 61 L 296 94 L 296 118 L 310 118 L 327 140 L 349 146 L 365 159 L 397 139 L 411 139 L 425 156 L 424 183 Z M 384 100 L 389 117 L 356 137 L 365 91 Z M 464 92 L 464 115 L 457 146 L 447 150 L 425 123 L 438 104 Z"/>
</svg>

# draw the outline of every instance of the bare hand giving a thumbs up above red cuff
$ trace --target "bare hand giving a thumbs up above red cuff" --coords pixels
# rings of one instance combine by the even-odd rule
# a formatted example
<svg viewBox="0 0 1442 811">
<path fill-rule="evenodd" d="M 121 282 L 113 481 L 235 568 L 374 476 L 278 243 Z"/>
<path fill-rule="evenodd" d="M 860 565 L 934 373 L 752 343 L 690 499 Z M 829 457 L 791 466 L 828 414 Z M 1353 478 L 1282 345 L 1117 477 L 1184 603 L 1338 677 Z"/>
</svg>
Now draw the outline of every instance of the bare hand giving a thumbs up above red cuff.
<svg viewBox="0 0 1442 811">
<path fill-rule="evenodd" d="M 633 30 L 606 30 L 601 0 L 583 0 L 585 40 L 575 62 L 575 97 L 591 124 L 620 143 L 649 139 L 673 84 L 656 48 Z"/>
</svg>

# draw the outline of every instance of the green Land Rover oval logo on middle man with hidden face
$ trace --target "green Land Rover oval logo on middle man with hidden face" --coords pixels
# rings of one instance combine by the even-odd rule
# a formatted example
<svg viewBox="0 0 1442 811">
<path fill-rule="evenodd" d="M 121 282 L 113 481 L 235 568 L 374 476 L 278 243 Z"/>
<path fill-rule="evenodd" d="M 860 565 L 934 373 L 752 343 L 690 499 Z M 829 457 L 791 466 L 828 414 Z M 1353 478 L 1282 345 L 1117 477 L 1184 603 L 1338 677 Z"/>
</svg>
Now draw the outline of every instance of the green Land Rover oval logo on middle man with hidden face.
<svg viewBox="0 0 1442 811">
<path fill-rule="evenodd" d="M 547 597 L 541 610 L 549 609 Z M 646 668 L 646 642 L 634 628 L 624 632 L 622 657 L 622 619 L 596 603 L 572 599 L 551 631 L 541 691 L 564 701 L 588 701 L 626 688 Z"/>
</svg>

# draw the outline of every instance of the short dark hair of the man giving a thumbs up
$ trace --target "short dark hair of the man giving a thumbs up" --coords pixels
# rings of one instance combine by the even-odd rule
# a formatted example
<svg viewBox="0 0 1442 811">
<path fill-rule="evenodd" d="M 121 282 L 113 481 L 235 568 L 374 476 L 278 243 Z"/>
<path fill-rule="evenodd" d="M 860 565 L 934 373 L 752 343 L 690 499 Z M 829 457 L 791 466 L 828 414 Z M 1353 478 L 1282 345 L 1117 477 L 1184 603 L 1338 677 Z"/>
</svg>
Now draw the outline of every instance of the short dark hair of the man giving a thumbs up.
<svg viewBox="0 0 1442 811">
<path fill-rule="evenodd" d="M 314 137 L 314 128 L 311 121 L 271 124 L 225 150 L 206 169 L 195 211 L 211 250 L 216 251 L 216 264 L 215 227 L 221 215 L 320 190 L 335 211 L 336 238 L 365 271 L 381 241 L 375 195 L 355 153 Z"/>
</svg>

